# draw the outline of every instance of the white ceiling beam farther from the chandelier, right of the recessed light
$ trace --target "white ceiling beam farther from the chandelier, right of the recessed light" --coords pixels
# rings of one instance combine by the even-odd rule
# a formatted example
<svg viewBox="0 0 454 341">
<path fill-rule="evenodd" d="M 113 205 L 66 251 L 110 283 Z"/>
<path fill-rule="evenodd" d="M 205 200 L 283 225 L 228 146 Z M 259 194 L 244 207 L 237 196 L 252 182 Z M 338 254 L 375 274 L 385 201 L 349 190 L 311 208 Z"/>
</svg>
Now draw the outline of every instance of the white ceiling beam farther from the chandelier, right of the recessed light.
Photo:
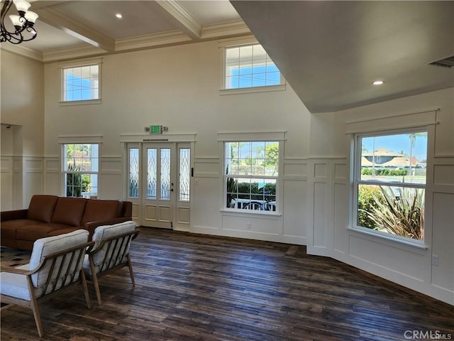
<svg viewBox="0 0 454 341">
<path fill-rule="evenodd" d="M 158 4 L 164 9 L 164 12 L 167 13 L 167 18 L 170 18 L 172 23 L 175 23 L 187 36 L 194 40 L 201 38 L 201 24 L 194 19 L 191 13 L 180 6 L 177 1 L 159 0 L 155 1 L 155 4 Z"/>
</svg>

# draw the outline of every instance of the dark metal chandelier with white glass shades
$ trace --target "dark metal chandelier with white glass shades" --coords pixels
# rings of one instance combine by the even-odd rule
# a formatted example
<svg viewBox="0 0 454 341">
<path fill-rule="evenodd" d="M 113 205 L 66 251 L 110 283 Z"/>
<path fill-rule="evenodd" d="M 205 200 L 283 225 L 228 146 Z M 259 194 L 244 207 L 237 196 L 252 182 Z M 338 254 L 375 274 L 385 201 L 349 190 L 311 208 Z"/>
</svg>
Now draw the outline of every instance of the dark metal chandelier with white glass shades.
<svg viewBox="0 0 454 341">
<path fill-rule="evenodd" d="M 4 4 L 1 7 L 0 42 L 4 43 L 5 41 L 9 41 L 11 44 L 20 44 L 23 41 L 35 39 L 38 33 L 35 31 L 35 28 L 33 28 L 33 25 L 38 18 L 38 14 L 28 11 L 31 5 L 24 0 L 6 0 L 1 2 Z M 9 16 L 14 26 L 14 31 L 9 32 L 5 27 L 4 20 L 6 13 L 9 11 L 13 3 L 16 6 L 19 15 Z"/>
</svg>

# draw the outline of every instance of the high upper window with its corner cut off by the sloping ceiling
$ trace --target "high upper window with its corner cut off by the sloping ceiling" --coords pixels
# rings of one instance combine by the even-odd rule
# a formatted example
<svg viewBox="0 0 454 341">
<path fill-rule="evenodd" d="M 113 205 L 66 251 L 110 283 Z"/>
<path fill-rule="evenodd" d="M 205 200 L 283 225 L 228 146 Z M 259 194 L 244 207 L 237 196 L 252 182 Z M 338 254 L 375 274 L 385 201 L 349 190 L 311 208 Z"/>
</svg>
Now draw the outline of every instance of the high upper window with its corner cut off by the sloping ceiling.
<svg viewBox="0 0 454 341">
<path fill-rule="evenodd" d="M 281 72 L 258 43 L 224 48 L 224 61 L 224 89 L 284 84 Z"/>
</svg>

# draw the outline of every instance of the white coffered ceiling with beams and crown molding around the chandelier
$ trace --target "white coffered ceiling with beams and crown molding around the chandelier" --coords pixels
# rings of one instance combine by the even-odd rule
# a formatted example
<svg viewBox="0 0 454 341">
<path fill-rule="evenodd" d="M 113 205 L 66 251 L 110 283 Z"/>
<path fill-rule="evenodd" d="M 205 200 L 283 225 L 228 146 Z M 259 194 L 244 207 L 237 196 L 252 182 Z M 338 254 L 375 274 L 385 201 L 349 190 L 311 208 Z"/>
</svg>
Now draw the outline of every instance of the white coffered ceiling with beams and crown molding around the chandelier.
<svg viewBox="0 0 454 341">
<path fill-rule="evenodd" d="M 39 15 L 37 38 L 2 48 L 45 63 L 250 35 L 228 0 L 29 1 Z M 10 11 L 15 12 L 14 6 Z"/>
</svg>

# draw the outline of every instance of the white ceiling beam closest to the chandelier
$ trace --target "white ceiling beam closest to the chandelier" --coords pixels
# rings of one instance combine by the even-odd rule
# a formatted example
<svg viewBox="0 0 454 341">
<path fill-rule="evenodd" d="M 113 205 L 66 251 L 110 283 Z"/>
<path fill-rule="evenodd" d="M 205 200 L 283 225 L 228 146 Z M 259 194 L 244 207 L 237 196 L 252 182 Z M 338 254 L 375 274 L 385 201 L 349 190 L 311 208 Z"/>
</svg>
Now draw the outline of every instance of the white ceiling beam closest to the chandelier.
<svg viewBox="0 0 454 341">
<path fill-rule="evenodd" d="M 107 52 L 115 51 L 114 39 L 93 30 L 89 26 L 74 20 L 56 9 L 52 9 L 52 7 L 37 9 L 37 13 L 40 16 L 40 21 L 43 21 L 50 26 L 58 28 L 85 43 L 94 45 L 96 48 L 101 48 Z"/>
</svg>

